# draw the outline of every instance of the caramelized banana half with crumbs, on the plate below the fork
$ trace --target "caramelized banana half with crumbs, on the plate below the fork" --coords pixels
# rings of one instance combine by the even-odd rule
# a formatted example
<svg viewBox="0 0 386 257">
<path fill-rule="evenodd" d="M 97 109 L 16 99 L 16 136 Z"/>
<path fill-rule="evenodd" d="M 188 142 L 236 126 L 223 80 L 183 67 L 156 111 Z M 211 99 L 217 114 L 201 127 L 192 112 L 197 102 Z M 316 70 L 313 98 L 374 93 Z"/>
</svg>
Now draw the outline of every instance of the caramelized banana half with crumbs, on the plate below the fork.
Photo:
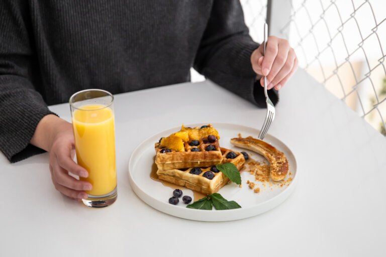
<svg viewBox="0 0 386 257">
<path fill-rule="evenodd" d="M 231 143 L 265 157 L 270 164 L 270 176 L 273 181 L 282 180 L 288 173 L 288 161 L 285 155 L 264 141 L 248 138 L 234 138 Z"/>
</svg>

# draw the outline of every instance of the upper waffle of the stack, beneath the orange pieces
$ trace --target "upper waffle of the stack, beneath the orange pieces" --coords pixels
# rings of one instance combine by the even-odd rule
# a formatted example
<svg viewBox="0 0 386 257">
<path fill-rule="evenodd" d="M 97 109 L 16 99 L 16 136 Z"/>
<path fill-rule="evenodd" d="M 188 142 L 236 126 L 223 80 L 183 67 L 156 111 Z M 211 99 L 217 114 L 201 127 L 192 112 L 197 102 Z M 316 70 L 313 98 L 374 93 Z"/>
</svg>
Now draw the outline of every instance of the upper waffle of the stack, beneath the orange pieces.
<svg viewBox="0 0 386 257">
<path fill-rule="evenodd" d="M 212 128 L 209 124 L 208 127 Z M 182 129 L 184 127 L 182 126 Z M 196 127 L 195 129 L 199 129 Z M 184 169 L 192 167 L 207 167 L 220 164 L 223 156 L 220 151 L 219 141 L 209 143 L 207 138 L 198 140 L 198 146 L 189 146 L 189 142 L 184 142 L 184 152 L 177 152 L 171 150 L 169 153 L 161 153 L 160 142 L 156 143 L 154 148 L 156 152 L 155 164 L 160 170 Z M 215 147 L 214 151 L 206 151 L 206 147 L 212 145 Z M 200 149 L 200 152 L 192 152 L 192 148 Z"/>
</svg>

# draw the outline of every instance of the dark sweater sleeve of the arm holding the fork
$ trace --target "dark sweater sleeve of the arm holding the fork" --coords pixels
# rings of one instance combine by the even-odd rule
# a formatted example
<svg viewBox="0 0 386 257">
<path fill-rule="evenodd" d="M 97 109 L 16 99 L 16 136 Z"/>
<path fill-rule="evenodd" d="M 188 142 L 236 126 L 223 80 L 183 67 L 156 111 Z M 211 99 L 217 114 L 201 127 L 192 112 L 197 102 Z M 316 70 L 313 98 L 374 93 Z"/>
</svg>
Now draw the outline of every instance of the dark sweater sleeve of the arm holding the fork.
<svg viewBox="0 0 386 257">
<path fill-rule="evenodd" d="M 266 107 L 263 88 L 250 61 L 258 46 L 249 36 L 239 0 L 215 0 L 194 68 L 242 98 Z M 276 104 L 277 91 L 268 90 L 268 95 Z"/>
</svg>

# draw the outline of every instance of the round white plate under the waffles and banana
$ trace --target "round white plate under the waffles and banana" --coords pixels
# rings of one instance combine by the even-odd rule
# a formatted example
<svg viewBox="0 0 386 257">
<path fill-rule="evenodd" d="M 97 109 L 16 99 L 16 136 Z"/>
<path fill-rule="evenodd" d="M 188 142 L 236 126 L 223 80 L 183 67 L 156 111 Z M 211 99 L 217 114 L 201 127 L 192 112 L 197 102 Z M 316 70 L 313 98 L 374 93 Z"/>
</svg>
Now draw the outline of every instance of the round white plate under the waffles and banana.
<svg viewBox="0 0 386 257">
<path fill-rule="evenodd" d="M 202 124 L 191 124 L 189 126 L 201 126 Z M 238 137 L 240 133 L 242 137 L 252 136 L 258 138 L 259 130 L 253 129 L 252 127 L 237 125 L 237 124 L 227 124 L 227 123 L 213 123 L 213 126 L 220 134 L 220 146 L 228 149 L 233 149 L 235 151 L 241 152 L 245 151 L 251 155 L 251 158 L 257 161 L 263 161 L 264 158 L 254 152 L 246 151 L 234 147 L 230 143 L 231 138 Z M 158 142 L 161 137 L 167 137 L 172 133 L 175 133 L 180 130 L 180 127 L 174 127 L 173 129 L 166 130 L 164 132 L 158 133 L 140 144 L 133 152 L 129 161 L 129 179 L 130 185 L 133 188 L 134 192 L 141 198 L 145 203 L 152 206 L 153 208 L 162 211 L 164 213 L 185 218 L 191 220 L 200 220 L 200 221 L 228 221 L 228 220 L 237 220 L 248 218 L 251 216 L 258 215 L 260 213 L 266 212 L 273 207 L 281 204 L 294 190 L 298 174 L 297 174 L 297 164 L 296 159 L 291 150 L 282 143 L 280 140 L 276 139 L 271 135 L 267 135 L 264 138 L 264 141 L 271 144 L 279 151 L 283 152 L 288 160 L 289 172 L 287 177 L 284 180 L 288 180 L 288 177 L 291 176 L 292 181 L 285 183 L 280 187 L 280 183 L 265 183 L 265 186 L 261 182 L 255 181 L 253 175 L 249 172 L 242 172 L 242 187 L 240 188 L 235 183 L 225 185 L 219 190 L 220 193 L 228 201 L 234 200 L 242 206 L 239 209 L 232 210 L 196 210 L 186 208 L 186 204 L 182 202 L 180 198 L 177 205 L 172 205 L 168 203 L 168 199 L 172 196 L 173 189 L 164 186 L 161 182 L 151 179 L 150 173 L 154 163 L 154 143 Z M 291 174 L 291 175 L 289 175 Z M 254 193 L 248 187 L 246 183 L 247 180 L 256 183 L 256 187 L 260 187 L 259 193 Z M 176 186 L 177 187 L 177 186 Z M 178 187 L 181 188 L 181 187 Z M 189 195 L 194 198 L 194 193 L 187 188 L 182 188 L 183 195 Z M 197 201 L 199 199 L 194 199 Z"/>
</svg>

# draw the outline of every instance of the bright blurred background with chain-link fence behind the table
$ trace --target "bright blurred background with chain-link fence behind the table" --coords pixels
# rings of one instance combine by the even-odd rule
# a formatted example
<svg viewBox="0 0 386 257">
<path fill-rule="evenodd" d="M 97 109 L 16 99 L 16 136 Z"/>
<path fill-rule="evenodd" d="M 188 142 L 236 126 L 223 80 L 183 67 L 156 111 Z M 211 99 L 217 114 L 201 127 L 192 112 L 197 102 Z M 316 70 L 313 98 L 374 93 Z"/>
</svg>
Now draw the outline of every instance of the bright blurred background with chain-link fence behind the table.
<svg viewBox="0 0 386 257">
<path fill-rule="evenodd" d="M 299 67 L 386 136 L 386 1 L 241 0 L 251 37 L 289 40 Z M 205 80 L 195 70 L 194 82 Z"/>
</svg>

